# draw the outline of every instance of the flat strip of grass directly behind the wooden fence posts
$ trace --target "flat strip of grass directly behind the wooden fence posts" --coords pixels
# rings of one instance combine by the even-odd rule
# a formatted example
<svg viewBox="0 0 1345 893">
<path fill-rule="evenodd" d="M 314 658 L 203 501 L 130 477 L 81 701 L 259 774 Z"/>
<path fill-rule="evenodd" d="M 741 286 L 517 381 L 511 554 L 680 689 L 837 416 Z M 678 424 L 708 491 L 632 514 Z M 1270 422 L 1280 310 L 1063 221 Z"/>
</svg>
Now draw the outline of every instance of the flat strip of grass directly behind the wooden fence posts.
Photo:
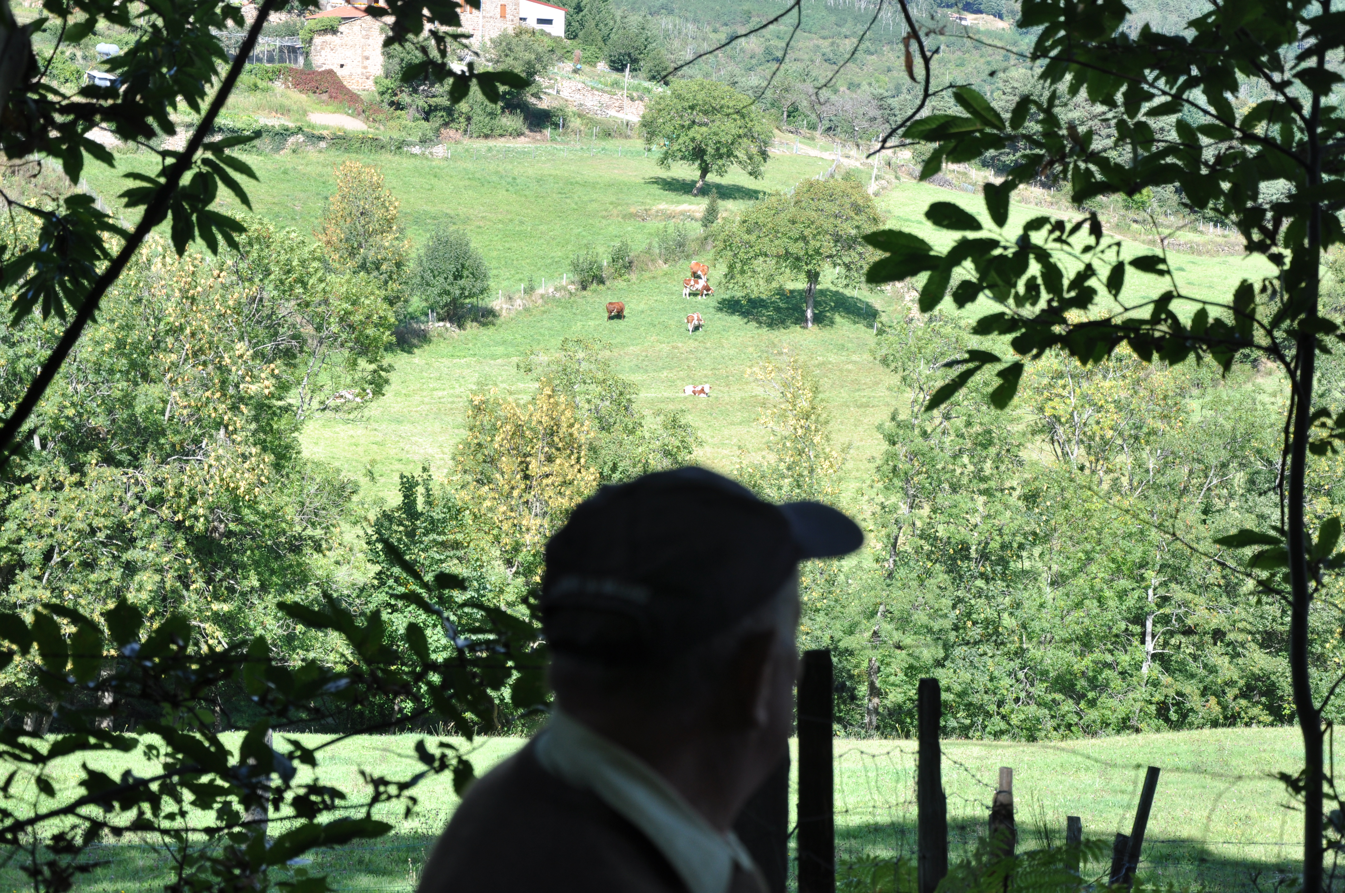
<svg viewBox="0 0 1345 893">
<path fill-rule="evenodd" d="M 300 736 L 305 744 L 319 736 Z M 410 776 L 421 764 L 416 736 L 360 737 L 331 749 L 320 779 L 352 798 L 366 788 L 359 769 L 387 777 Z M 463 744 L 459 741 L 457 744 Z M 521 738 L 482 738 L 471 748 L 477 773 L 516 750 Z M 913 741 L 838 740 L 835 810 L 838 862 L 861 857 L 911 858 L 915 849 Z M 125 757 L 104 759 L 118 771 L 144 771 Z M 1084 839 L 1108 845 L 1128 832 L 1146 765 L 1162 769 L 1150 818 L 1141 881 L 1192 885 L 1201 890 L 1274 888 L 1291 870 L 1301 841 L 1298 814 L 1272 773 L 1299 765 L 1294 729 L 1219 729 L 1173 734 L 1096 738 L 1052 744 L 946 741 L 943 784 L 948 799 L 950 849 L 956 859 L 983 832 L 998 767 L 1014 769 L 1020 849 L 1060 845 L 1065 816 L 1083 819 Z M 90 759 L 93 764 L 93 760 Z M 133 763 L 133 761 L 132 761 Z M 98 768 L 98 767 L 95 767 Z M 106 767 L 104 767 L 106 768 Z M 308 772 L 308 769 L 303 769 Z M 71 779 L 73 780 L 73 779 Z M 434 835 L 457 798 L 447 777 L 417 789 L 410 816 L 401 806 L 377 812 L 394 830 L 377 841 L 313 854 L 315 870 L 330 873 L 339 890 L 410 890 Z M 791 796 L 791 803 L 794 798 Z M 282 830 L 276 823 L 274 830 Z M 526 846 L 526 842 L 521 842 Z M 167 859 L 152 841 L 108 843 L 93 857 L 110 865 L 81 884 L 95 893 L 130 893 L 163 884 Z M 1095 871 L 1106 866 L 1089 866 Z M 12 870 L 0 884 L 20 885 Z"/>
</svg>

